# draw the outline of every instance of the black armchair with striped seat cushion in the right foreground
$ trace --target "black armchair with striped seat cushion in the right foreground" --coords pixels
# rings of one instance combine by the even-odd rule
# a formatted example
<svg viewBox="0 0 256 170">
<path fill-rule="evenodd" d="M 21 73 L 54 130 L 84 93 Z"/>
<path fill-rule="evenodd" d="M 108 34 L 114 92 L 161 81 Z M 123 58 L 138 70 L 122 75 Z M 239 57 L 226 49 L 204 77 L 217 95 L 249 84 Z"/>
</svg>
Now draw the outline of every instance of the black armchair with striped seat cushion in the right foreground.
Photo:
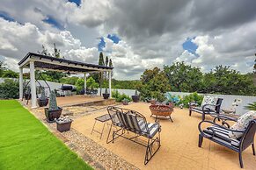
<svg viewBox="0 0 256 170">
<path fill-rule="evenodd" d="M 216 117 L 216 119 L 222 119 L 228 120 L 229 117 Z M 234 121 L 234 119 L 230 118 L 230 121 Z M 207 127 L 206 129 L 201 128 L 201 124 L 203 123 L 209 123 L 212 124 L 211 126 Z M 198 130 L 200 131 L 199 134 L 199 142 L 198 146 L 201 147 L 203 138 L 208 138 L 209 140 L 216 142 L 219 145 L 223 145 L 225 147 L 230 148 L 231 150 L 238 152 L 239 156 L 239 162 L 240 167 L 243 168 L 243 159 L 242 159 L 242 152 L 245 151 L 247 147 L 252 145 L 252 153 L 255 155 L 255 149 L 254 149 L 254 134 L 256 131 L 256 119 L 253 119 L 250 121 L 248 126 L 244 131 L 237 131 L 230 128 L 227 128 L 223 125 L 216 124 L 214 122 L 210 121 L 201 121 L 200 124 L 198 124 Z M 230 132 L 240 132 L 242 133 L 242 137 L 240 138 L 230 138 Z"/>
</svg>

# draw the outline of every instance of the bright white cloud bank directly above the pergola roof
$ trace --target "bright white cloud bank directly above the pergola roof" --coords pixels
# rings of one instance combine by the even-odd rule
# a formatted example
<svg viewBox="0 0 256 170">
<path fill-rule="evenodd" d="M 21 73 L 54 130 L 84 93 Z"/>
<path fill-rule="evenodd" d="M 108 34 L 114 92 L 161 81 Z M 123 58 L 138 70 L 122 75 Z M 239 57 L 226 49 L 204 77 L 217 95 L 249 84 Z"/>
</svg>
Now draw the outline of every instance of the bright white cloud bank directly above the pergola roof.
<svg viewBox="0 0 256 170">
<path fill-rule="evenodd" d="M 81 60 L 97 64 L 98 50 L 96 47 L 86 48 L 79 39 L 75 39 L 68 31 L 40 32 L 38 27 L 30 23 L 20 25 L 0 18 L 0 53 L 12 69 L 18 70 L 18 60 L 26 53 L 37 53 L 41 46 L 53 49 L 53 43 L 61 49 L 62 55 L 67 59 Z M 48 53 L 53 53 L 49 50 Z M 15 63 L 15 65 L 13 65 Z"/>
</svg>

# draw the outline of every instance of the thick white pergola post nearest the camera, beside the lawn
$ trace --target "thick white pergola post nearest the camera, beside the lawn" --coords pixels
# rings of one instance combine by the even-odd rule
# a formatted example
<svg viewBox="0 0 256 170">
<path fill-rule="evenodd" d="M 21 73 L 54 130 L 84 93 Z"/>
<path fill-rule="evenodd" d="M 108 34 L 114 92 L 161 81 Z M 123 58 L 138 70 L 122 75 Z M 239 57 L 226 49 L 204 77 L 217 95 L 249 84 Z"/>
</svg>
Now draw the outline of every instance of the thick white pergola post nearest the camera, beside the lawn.
<svg viewBox="0 0 256 170">
<path fill-rule="evenodd" d="M 35 87 L 35 74 L 34 74 L 34 61 L 29 62 L 30 66 L 30 88 L 31 88 L 31 108 L 36 108 L 36 87 Z"/>
</svg>

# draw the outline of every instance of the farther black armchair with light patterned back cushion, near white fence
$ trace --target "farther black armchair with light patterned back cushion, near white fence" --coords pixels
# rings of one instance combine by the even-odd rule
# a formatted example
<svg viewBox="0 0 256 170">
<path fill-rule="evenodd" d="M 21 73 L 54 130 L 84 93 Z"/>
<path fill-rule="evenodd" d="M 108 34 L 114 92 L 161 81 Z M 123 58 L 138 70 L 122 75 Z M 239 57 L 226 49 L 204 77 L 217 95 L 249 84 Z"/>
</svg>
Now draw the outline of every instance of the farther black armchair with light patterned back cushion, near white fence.
<svg viewBox="0 0 256 170">
<path fill-rule="evenodd" d="M 205 119 L 205 115 L 219 115 L 221 110 L 221 105 L 223 103 L 222 98 L 217 98 L 216 96 L 204 96 L 201 106 L 194 107 L 194 105 L 189 103 L 189 117 L 191 117 L 192 111 L 201 114 L 201 120 Z"/>
</svg>

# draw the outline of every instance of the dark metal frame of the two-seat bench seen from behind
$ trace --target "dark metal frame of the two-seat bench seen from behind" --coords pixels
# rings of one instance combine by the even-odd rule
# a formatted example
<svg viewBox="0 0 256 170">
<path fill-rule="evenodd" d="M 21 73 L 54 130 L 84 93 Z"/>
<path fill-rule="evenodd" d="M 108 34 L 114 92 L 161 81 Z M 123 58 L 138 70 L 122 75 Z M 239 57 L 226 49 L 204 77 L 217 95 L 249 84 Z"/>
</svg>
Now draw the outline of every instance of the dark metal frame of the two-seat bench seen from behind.
<svg viewBox="0 0 256 170">
<path fill-rule="evenodd" d="M 125 120 L 126 121 L 126 124 L 116 124 L 115 120 L 114 120 L 114 117 L 117 117 L 116 116 L 116 112 L 119 111 L 121 114 L 128 114 L 128 113 L 132 113 L 135 115 L 135 117 L 139 117 L 139 118 L 142 118 L 143 121 L 147 124 L 147 121 L 146 121 L 146 118 L 143 117 L 142 114 L 140 114 L 139 112 L 135 111 L 135 110 L 126 110 L 126 109 L 122 109 L 122 108 L 118 108 L 118 107 L 113 107 L 113 106 L 109 106 L 107 108 L 107 111 L 109 113 L 109 116 L 112 117 L 112 124 L 110 126 L 110 130 L 108 132 L 108 135 L 107 135 L 107 138 L 106 138 L 106 144 L 112 142 L 116 139 L 116 138 L 119 138 L 119 137 L 122 137 L 122 138 L 126 138 L 132 142 L 135 142 L 136 144 L 138 145 L 143 145 L 144 147 L 146 147 L 146 153 L 145 153 L 145 158 L 144 158 L 144 165 L 146 165 L 150 159 L 153 158 L 153 156 L 156 154 L 156 152 L 159 150 L 161 144 L 160 144 L 160 131 L 161 131 L 161 127 L 160 127 L 160 124 L 158 123 L 155 123 L 157 125 L 159 125 L 159 129 L 157 131 L 158 133 L 158 136 L 157 138 L 154 138 L 154 137 L 146 137 L 145 135 L 143 135 L 143 133 L 145 133 L 145 131 L 137 131 L 135 130 L 133 127 L 131 127 L 130 125 L 128 125 L 128 120 Z M 115 113 L 114 113 L 115 112 Z M 119 121 L 121 122 L 120 118 L 119 118 Z M 110 136 L 110 133 L 112 131 L 112 127 L 116 127 L 116 130 L 113 130 L 113 134 L 112 134 L 112 139 L 109 140 L 109 136 Z M 150 134 L 150 131 L 149 131 L 149 128 L 148 126 L 146 125 L 146 132 L 147 134 L 149 135 Z M 135 136 L 133 137 L 126 137 L 125 136 L 125 133 L 127 132 L 133 132 L 135 134 Z M 156 133 L 156 134 L 157 134 Z M 144 138 L 147 138 L 147 144 L 144 144 L 143 142 L 139 141 L 137 138 L 138 137 L 144 137 Z M 153 152 L 153 145 L 157 143 L 157 149 Z"/>
</svg>

